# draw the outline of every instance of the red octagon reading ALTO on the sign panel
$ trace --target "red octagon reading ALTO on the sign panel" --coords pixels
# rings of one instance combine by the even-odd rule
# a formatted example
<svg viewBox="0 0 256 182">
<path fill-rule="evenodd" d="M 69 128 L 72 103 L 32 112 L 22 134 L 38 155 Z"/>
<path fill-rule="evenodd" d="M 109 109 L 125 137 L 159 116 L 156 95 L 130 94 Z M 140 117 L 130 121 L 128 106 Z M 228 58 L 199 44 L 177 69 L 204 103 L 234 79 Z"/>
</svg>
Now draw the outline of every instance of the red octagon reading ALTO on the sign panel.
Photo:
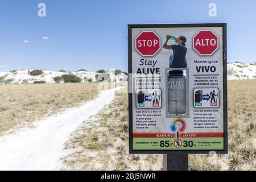
<svg viewBox="0 0 256 182">
<path fill-rule="evenodd" d="M 218 36 L 211 30 L 200 30 L 193 37 L 193 48 L 201 56 L 210 56 L 218 49 Z"/>
</svg>

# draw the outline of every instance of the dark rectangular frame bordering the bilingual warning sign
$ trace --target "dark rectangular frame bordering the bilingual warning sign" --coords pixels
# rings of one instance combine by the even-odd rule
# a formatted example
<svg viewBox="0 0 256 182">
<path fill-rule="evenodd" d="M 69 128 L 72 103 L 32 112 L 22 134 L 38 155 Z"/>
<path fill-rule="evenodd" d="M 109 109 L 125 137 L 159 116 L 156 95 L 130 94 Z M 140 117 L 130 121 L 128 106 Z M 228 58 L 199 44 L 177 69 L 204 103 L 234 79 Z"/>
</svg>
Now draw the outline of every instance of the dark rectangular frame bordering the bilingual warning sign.
<svg viewBox="0 0 256 182">
<path fill-rule="evenodd" d="M 228 154 L 228 90 L 227 90 L 227 48 L 226 23 L 188 23 L 188 24 L 128 24 L 128 73 L 129 73 L 129 153 L 130 154 L 209 154 L 213 150 L 133 150 L 133 93 L 131 88 L 132 74 L 132 29 L 133 28 L 189 28 L 189 27 L 222 27 L 223 59 L 223 132 L 224 150 L 214 150 L 216 154 Z"/>
</svg>

